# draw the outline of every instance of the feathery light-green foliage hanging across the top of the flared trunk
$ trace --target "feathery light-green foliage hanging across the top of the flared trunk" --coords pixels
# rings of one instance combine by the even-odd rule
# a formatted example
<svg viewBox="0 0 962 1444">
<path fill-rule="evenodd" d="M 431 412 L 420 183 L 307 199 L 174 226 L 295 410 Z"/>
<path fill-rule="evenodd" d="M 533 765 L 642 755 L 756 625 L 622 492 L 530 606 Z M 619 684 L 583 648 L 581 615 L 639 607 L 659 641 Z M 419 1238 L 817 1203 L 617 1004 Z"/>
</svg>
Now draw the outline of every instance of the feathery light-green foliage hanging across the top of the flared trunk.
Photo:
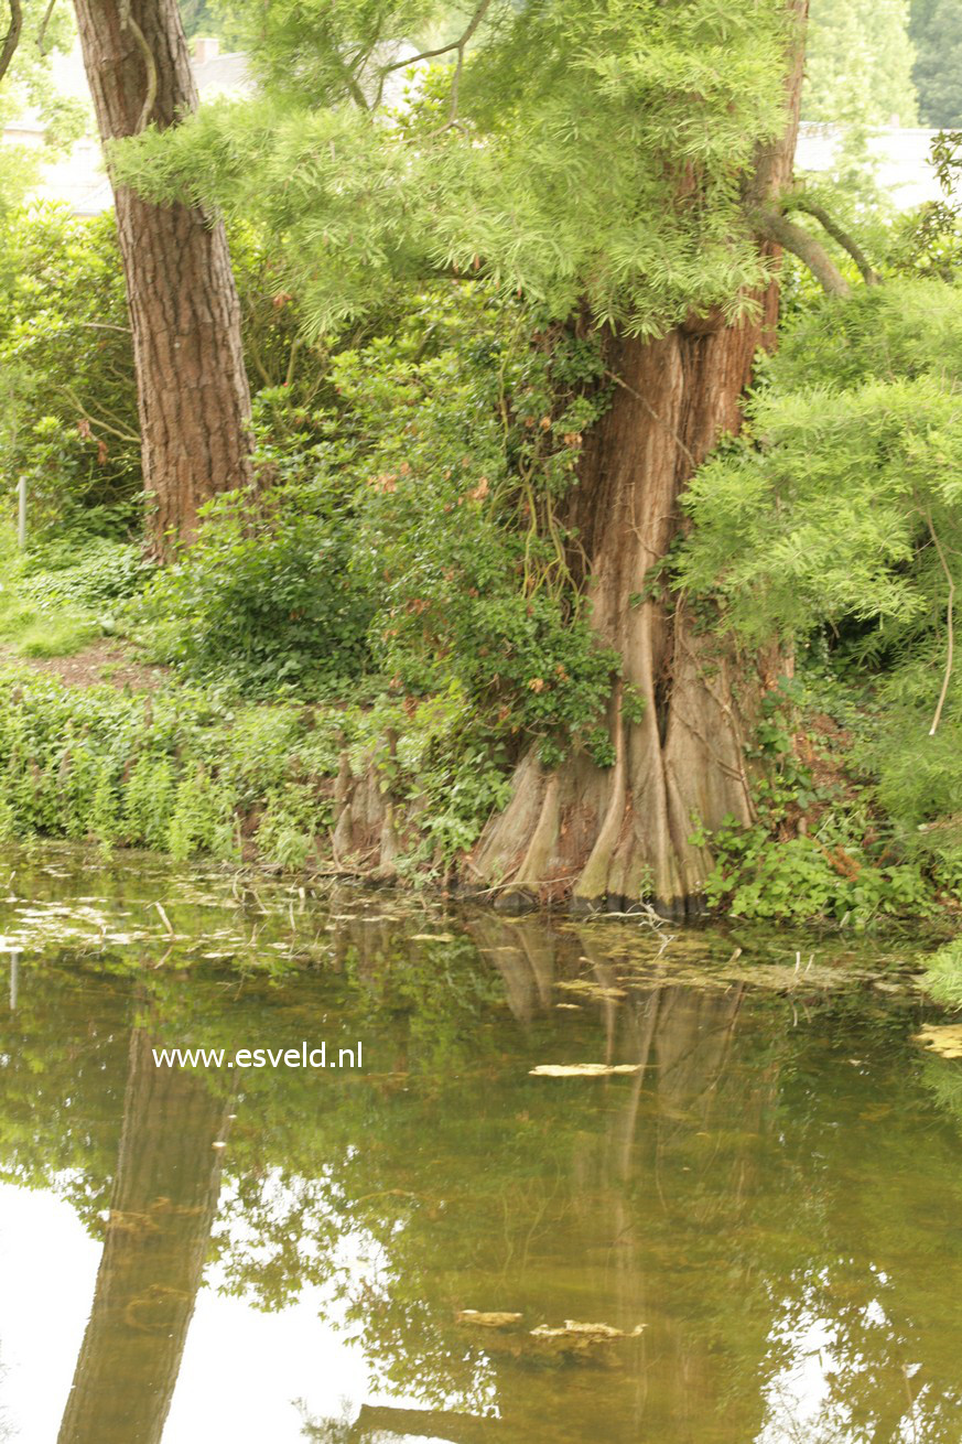
<svg viewBox="0 0 962 1444">
<path fill-rule="evenodd" d="M 747 305 L 764 263 L 742 182 L 784 124 L 779 0 L 494 4 L 468 62 L 415 81 L 400 113 L 373 101 L 409 7 L 276 10 L 259 55 L 290 85 L 116 159 L 153 198 L 263 224 L 313 334 L 399 280 L 478 267 L 553 316 L 637 332 Z"/>
</svg>

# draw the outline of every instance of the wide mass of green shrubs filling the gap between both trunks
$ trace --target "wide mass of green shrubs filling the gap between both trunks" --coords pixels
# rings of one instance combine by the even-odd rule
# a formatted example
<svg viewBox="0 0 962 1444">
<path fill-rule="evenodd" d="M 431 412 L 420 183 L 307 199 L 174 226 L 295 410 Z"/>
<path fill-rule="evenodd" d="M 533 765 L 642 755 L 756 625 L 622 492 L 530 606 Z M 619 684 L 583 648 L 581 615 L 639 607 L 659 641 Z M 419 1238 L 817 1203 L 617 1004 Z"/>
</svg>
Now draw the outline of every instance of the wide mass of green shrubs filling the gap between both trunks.
<svg viewBox="0 0 962 1444">
<path fill-rule="evenodd" d="M 377 671 L 471 699 L 556 755 L 604 710 L 601 651 L 558 503 L 604 400 L 591 347 L 532 338 L 482 287 L 422 295 L 390 336 L 329 362 L 332 400 L 257 409 L 260 488 L 224 497 L 140 609 L 156 656 L 251 695 Z"/>
</svg>

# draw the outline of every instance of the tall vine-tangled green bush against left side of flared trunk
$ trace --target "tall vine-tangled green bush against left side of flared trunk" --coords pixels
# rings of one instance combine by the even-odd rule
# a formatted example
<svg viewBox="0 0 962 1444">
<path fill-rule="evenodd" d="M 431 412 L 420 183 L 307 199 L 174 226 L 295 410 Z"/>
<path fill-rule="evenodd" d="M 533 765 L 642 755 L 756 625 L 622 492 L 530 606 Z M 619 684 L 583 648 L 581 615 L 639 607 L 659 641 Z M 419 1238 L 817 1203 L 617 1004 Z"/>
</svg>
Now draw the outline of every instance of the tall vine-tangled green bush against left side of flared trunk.
<svg viewBox="0 0 962 1444">
<path fill-rule="evenodd" d="M 332 373 L 374 656 L 396 689 L 455 677 L 491 726 L 558 752 L 597 725 L 615 666 L 579 612 L 559 520 L 604 404 L 582 394 L 597 348 L 533 336 L 481 286 L 420 297 L 412 322 Z"/>
</svg>

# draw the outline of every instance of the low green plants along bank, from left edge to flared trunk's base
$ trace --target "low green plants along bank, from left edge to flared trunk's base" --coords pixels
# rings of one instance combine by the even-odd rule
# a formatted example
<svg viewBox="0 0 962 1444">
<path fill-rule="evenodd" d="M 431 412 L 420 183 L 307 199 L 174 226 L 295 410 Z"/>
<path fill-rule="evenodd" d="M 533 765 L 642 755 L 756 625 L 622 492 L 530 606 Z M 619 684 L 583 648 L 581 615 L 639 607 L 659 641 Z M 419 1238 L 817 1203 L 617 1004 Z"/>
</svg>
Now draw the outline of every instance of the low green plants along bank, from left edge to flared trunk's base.
<svg viewBox="0 0 962 1444">
<path fill-rule="evenodd" d="M 376 767 L 399 809 L 417 816 L 399 859 L 410 879 L 445 874 L 507 800 L 506 761 L 472 735 L 456 690 L 407 712 L 400 702 L 237 703 L 183 684 L 81 689 L 0 670 L 0 840 L 324 869 L 345 760 L 355 775 Z"/>
</svg>

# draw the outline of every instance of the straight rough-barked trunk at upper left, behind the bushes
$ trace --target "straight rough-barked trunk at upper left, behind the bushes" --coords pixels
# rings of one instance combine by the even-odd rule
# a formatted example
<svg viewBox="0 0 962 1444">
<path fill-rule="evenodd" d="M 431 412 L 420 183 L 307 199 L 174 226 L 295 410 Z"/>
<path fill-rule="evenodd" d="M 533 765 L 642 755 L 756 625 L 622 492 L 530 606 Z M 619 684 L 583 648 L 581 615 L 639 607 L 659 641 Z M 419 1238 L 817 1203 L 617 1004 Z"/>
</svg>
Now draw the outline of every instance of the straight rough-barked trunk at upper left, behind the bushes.
<svg viewBox="0 0 962 1444">
<path fill-rule="evenodd" d="M 176 0 L 77 0 L 104 142 L 196 110 Z M 155 94 L 156 91 L 156 94 Z M 153 97 L 153 98 L 152 98 Z M 155 550 L 189 540 L 196 513 L 251 477 L 250 394 L 224 225 L 186 205 L 116 192 Z"/>
</svg>

